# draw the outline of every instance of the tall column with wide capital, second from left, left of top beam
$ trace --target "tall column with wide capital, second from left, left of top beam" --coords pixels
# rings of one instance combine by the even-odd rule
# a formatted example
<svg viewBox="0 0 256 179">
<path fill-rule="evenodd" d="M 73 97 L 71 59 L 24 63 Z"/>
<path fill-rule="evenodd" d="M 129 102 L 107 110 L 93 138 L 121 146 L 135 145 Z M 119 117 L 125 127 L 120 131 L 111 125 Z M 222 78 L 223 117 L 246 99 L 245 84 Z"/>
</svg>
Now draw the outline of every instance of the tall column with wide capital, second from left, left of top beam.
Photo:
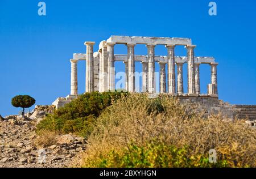
<svg viewBox="0 0 256 179">
<path fill-rule="evenodd" d="M 93 45 L 95 42 L 85 42 L 86 45 L 86 80 L 85 92 L 94 91 L 94 65 L 93 65 Z"/>
</svg>

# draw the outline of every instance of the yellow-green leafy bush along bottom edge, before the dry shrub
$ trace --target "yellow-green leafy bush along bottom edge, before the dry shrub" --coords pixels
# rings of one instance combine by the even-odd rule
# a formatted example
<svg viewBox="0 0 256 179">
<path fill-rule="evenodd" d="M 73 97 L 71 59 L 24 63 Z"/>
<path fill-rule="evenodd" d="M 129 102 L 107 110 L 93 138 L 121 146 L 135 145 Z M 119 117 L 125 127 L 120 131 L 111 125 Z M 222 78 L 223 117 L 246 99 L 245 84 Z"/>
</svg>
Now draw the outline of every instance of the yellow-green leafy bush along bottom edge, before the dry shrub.
<svg viewBox="0 0 256 179">
<path fill-rule="evenodd" d="M 229 167 L 226 160 L 210 163 L 207 155 L 191 155 L 188 147 L 177 148 L 157 142 L 146 146 L 129 144 L 122 150 L 110 150 L 96 160 L 87 160 L 83 167 L 100 168 L 170 168 Z"/>
</svg>

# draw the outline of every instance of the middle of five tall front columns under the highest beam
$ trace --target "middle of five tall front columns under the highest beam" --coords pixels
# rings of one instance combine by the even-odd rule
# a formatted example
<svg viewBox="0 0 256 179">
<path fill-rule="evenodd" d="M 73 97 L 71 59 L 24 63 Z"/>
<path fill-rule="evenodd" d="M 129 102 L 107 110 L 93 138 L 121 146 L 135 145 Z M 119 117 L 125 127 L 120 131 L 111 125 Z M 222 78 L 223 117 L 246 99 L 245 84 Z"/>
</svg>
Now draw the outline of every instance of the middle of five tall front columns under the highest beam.
<svg viewBox="0 0 256 179">
<path fill-rule="evenodd" d="M 155 93 L 155 45 L 147 46 L 147 89 L 149 93 Z"/>
</svg>

